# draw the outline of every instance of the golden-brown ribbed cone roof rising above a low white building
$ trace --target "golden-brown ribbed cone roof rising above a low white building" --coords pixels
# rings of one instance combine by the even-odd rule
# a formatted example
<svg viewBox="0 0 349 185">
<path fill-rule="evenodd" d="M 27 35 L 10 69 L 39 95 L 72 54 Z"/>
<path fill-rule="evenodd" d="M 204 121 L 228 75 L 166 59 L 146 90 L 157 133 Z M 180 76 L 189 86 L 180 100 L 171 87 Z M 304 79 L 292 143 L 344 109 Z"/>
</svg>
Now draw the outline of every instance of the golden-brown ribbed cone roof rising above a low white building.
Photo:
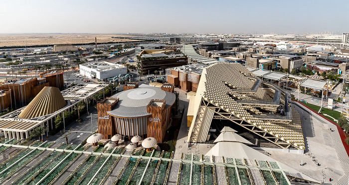
<svg viewBox="0 0 349 185">
<path fill-rule="evenodd" d="M 31 119 L 49 115 L 65 105 L 66 102 L 57 87 L 44 87 L 18 115 L 18 118 Z"/>
</svg>

